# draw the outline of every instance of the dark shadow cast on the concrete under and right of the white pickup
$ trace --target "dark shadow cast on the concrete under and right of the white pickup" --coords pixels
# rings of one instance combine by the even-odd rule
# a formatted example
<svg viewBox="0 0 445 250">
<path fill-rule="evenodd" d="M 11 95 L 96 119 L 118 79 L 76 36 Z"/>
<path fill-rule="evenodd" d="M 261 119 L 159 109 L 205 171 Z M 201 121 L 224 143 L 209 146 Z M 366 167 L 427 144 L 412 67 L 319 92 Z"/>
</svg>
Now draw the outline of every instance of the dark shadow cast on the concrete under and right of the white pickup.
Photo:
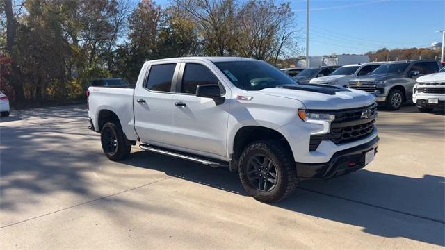
<svg viewBox="0 0 445 250">
<path fill-rule="evenodd" d="M 248 196 L 238 175 L 224 168 L 214 169 L 145 151 L 132 153 L 122 163 Z M 266 206 L 359 226 L 373 235 L 442 246 L 444 184 L 445 178 L 439 176 L 409 178 L 360 170 L 327 181 L 303 181 L 291 197 Z"/>
</svg>

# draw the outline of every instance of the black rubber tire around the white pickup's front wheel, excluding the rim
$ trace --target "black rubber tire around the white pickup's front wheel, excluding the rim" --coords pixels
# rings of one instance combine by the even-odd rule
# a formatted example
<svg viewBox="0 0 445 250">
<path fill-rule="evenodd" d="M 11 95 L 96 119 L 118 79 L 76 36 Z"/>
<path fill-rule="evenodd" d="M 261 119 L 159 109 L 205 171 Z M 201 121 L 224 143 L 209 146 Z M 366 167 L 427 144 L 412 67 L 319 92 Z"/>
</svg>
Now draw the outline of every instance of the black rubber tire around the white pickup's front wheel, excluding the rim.
<svg viewBox="0 0 445 250">
<path fill-rule="evenodd" d="M 254 188 L 247 175 L 248 161 L 251 157 L 261 154 L 268 157 L 276 169 L 275 187 L 268 192 Z M 277 202 L 295 192 L 298 185 L 295 161 L 291 151 L 277 140 L 258 140 L 248 144 L 239 160 L 239 177 L 248 194 L 261 202 Z"/>
</svg>

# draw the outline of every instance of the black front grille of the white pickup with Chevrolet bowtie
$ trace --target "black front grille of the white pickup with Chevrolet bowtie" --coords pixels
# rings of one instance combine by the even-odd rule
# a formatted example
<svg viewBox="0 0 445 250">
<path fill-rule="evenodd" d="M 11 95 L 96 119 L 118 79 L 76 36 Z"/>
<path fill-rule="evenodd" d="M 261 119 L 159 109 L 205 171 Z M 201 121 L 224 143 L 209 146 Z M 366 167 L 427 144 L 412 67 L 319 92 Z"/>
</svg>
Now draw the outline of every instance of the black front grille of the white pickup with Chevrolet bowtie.
<svg viewBox="0 0 445 250">
<path fill-rule="evenodd" d="M 330 133 L 311 135 L 309 151 L 316 151 L 323 140 L 334 144 L 354 142 L 371 135 L 374 131 L 377 103 L 362 108 L 334 111 L 334 121 Z"/>
</svg>

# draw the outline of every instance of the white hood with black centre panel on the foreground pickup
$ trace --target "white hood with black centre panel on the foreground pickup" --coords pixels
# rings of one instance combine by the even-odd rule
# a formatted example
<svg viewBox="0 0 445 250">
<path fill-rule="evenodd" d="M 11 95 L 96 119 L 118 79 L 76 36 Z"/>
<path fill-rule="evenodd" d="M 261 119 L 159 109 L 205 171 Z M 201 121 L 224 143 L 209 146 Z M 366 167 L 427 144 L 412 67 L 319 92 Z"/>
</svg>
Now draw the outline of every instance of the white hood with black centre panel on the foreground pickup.
<svg viewBox="0 0 445 250">
<path fill-rule="evenodd" d="M 307 109 L 339 110 L 369 106 L 375 102 L 372 94 L 335 85 L 283 85 L 279 88 L 265 88 L 261 94 L 295 99 Z"/>
</svg>

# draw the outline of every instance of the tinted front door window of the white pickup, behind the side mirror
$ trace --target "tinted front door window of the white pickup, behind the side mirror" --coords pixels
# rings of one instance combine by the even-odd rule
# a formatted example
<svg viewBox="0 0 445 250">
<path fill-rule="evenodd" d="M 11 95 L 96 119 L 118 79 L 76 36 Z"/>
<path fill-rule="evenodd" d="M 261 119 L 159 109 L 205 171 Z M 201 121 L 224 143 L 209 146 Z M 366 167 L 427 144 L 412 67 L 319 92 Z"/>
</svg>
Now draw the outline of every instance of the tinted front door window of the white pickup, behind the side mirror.
<svg viewBox="0 0 445 250">
<path fill-rule="evenodd" d="M 196 94 L 197 85 L 218 85 L 218 78 L 204 65 L 186 63 L 182 77 L 181 92 Z"/>
</svg>

